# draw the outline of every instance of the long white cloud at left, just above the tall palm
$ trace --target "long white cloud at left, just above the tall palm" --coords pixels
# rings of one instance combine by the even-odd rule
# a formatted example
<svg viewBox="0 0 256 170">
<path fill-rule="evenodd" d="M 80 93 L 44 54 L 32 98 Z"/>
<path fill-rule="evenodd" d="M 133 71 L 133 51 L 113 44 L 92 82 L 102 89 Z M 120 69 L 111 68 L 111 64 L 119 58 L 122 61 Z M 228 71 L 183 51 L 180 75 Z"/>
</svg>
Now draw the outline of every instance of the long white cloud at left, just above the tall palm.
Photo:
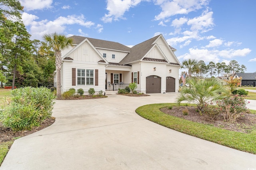
<svg viewBox="0 0 256 170">
<path fill-rule="evenodd" d="M 60 16 L 53 21 L 36 21 L 37 19 L 39 19 L 37 16 L 27 14 L 25 12 L 22 14 L 22 20 L 26 22 L 26 26 L 30 29 L 29 32 L 32 35 L 31 39 L 41 39 L 42 35 L 45 33 L 55 31 L 58 33 L 63 33 L 66 29 L 66 25 L 78 24 L 86 28 L 90 28 L 95 24 L 92 21 L 86 21 L 84 15 L 71 15 L 67 17 Z"/>
</svg>

